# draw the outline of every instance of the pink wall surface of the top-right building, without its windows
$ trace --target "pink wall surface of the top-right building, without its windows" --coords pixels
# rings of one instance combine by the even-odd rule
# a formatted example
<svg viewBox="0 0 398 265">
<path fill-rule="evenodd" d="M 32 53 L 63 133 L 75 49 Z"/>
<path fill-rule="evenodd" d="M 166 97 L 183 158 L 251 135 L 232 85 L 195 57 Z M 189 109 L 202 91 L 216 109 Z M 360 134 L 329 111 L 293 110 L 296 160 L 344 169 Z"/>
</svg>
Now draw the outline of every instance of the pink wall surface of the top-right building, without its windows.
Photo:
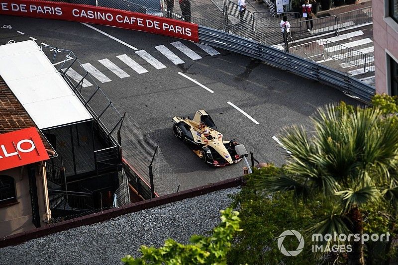
<svg viewBox="0 0 398 265">
<path fill-rule="evenodd" d="M 398 63 L 398 23 L 388 17 L 388 0 L 373 0 L 376 92 L 389 93 L 387 54 Z"/>
</svg>

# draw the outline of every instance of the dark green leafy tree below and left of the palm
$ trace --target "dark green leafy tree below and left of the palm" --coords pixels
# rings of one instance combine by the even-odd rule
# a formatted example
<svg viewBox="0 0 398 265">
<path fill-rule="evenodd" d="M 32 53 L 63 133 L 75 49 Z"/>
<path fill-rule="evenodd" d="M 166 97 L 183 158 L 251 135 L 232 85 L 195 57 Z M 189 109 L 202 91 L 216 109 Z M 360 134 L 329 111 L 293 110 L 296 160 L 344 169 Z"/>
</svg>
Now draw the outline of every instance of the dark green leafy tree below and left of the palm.
<svg viewBox="0 0 398 265">
<path fill-rule="evenodd" d="M 314 264 L 317 258 L 312 255 L 311 245 L 305 244 L 303 251 L 296 257 L 284 256 L 278 249 L 277 238 L 285 230 L 295 229 L 309 242 L 305 228 L 325 217 L 327 211 L 321 202 L 313 201 L 309 205 L 303 202 L 292 203 L 293 191 L 276 192 L 272 195 L 258 189 L 259 181 L 279 176 L 284 169 L 270 165 L 260 170 L 254 169 L 247 176 L 247 183 L 241 192 L 233 196 L 232 207 L 239 206 L 241 228 L 228 253 L 228 264 L 248 263 L 267 264 Z M 296 250 L 298 240 L 287 237 L 283 242 L 287 250 Z"/>
</svg>

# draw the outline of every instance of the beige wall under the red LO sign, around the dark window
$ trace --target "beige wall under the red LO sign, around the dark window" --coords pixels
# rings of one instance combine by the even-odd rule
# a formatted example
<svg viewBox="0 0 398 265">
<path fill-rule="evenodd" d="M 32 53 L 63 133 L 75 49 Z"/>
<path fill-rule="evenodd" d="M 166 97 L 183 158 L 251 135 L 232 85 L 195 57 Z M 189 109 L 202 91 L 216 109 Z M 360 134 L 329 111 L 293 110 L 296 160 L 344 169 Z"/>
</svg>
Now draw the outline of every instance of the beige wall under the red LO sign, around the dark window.
<svg viewBox="0 0 398 265">
<path fill-rule="evenodd" d="M 40 226 L 46 225 L 44 217 L 46 216 L 45 193 L 43 188 L 43 177 L 39 175 L 39 169 L 36 167 L 36 185 L 39 202 Z M 0 175 L 7 175 L 14 178 L 16 197 L 18 203 L 1 207 L 0 205 L 0 237 L 21 233 L 36 228 L 32 223 L 32 204 L 29 194 L 29 178 L 27 166 L 1 171 Z"/>
</svg>

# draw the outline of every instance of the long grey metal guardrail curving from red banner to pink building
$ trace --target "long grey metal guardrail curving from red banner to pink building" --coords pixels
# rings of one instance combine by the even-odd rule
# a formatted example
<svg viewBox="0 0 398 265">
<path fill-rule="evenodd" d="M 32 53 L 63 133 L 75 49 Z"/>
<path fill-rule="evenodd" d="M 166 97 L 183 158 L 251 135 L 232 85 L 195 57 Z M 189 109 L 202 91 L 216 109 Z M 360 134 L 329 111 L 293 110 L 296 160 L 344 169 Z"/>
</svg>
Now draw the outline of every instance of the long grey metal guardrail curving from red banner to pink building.
<svg viewBox="0 0 398 265">
<path fill-rule="evenodd" d="M 213 47 L 244 54 L 298 76 L 318 81 L 364 102 L 370 102 L 375 94 L 374 87 L 346 73 L 239 36 L 199 26 L 199 40 Z"/>
</svg>

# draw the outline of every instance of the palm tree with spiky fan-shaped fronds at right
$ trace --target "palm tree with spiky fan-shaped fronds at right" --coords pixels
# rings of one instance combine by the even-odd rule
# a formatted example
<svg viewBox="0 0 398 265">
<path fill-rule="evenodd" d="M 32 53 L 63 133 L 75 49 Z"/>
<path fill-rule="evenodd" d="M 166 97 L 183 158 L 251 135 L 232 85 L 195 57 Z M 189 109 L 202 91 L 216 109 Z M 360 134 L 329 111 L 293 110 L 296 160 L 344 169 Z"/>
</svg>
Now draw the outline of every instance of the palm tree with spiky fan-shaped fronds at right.
<svg viewBox="0 0 398 265">
<path fill-rule="evenodd" d="M 292 153 L 286 174 L 259 182 L 268 192 L 294 191 L 295 199 L 334 206 L 309 229 L 314 233 L 363 234 L 363 209 L 386 202 L 397 209 L 398 126 L 379 109 L 328 105 L 311 118 L 314 130 L 284 129 L 279 136 Z M 348 264 L 363 265 L 364 246 L 351 242 Z"/>
</svg>

